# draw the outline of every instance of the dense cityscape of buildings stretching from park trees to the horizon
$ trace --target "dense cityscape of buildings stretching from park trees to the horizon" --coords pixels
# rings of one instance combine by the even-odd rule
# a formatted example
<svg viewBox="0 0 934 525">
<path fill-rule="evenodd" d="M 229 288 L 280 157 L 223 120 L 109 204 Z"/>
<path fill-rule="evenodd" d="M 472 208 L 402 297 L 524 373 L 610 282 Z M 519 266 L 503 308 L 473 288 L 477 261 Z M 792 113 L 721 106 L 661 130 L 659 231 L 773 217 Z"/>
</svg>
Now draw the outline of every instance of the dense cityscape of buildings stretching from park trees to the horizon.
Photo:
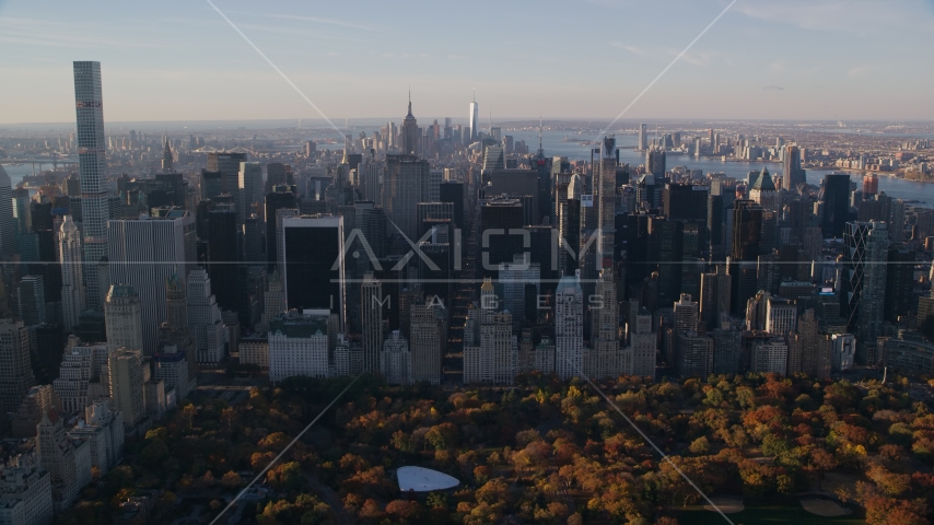
<svg viewBox="0 0 934 525">
<path fill-rule="evenodd" d="M 27 509 L 0 524 L 50 523 L 194 396 L 296 377 L 930 396 L 930 122 L 427 121 L 410 98 L 342 129 L 114 131 L 101 63 L 73 74 L 75 126 L 0 129 L 0 517 Z"/>
</svg>

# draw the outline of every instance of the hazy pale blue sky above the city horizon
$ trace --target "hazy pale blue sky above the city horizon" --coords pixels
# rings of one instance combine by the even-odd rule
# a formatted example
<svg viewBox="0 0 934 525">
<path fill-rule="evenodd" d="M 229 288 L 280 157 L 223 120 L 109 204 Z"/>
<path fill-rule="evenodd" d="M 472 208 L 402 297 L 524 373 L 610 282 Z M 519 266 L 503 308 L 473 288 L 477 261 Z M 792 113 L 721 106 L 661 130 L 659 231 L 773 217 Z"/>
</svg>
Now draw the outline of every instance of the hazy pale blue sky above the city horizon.
<svg viewBox="0 0 934 525">
<path fill-rule="evenodd" d="M 615 117 L 729 2 L 217 5 L 330 118 Z M 739 0 L 624 118 L 934 118 L 934 0 Z M 0 122 L 316 118 L 205 0 L 0 0 Z"/>
</svg>

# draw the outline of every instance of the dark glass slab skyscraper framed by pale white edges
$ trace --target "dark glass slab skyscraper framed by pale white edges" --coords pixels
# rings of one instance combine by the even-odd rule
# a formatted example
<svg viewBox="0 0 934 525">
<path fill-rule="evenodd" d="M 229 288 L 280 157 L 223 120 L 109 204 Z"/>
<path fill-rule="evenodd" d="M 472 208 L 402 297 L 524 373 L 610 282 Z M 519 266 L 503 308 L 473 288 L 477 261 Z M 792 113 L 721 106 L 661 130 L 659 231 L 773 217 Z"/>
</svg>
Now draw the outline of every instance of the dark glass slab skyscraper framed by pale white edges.
<svg viewBox="0 0 934 525">
<path fill-rule="evenodd" d="M 289 217 L 282 226 L 287 306 L 327 311 L 346 326 L 343 218 Z"/>
</svg>

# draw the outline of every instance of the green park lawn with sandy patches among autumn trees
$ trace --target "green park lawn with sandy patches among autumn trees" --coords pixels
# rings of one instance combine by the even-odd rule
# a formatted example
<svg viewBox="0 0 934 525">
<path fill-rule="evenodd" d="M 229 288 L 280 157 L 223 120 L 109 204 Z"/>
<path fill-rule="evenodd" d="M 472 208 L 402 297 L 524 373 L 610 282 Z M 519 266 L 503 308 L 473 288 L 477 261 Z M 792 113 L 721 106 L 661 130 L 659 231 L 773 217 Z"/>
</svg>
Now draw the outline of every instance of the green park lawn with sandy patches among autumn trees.
<svg viewBox="0 0 934 525">
<path fill-rule="evenodd" d="M 752 499 L 745 498 L 744 504 L 746 509 L 743 512 L 727 514 L 727 517 L 736 525 L 755 525 L 759 523 L 779 524 L 791 523 L 794 525 L 820 525 L 825 523 L 833 525 L 865 525 L 865 520 L 856 517 L 862 513 L 853 510 L 853 514 L 839 517 L 824 517 L 817 514 L 812 514 L 801 506 L 798 498 L 786 499 Z M 722 525 L 726 523 L 716 512 L 708 511 L 703 505 L 689 505 L 678 511 L 679 523 L 690 523 L 691 525 Z"/>
</svg>

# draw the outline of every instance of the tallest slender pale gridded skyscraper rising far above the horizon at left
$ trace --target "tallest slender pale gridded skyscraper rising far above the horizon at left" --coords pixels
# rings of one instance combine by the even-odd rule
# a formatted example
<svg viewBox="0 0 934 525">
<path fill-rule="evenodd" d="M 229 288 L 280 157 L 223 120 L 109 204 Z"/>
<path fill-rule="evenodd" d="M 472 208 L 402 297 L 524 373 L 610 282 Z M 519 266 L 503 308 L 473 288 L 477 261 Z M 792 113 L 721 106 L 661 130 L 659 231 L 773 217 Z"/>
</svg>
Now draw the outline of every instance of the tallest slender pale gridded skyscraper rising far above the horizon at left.
<svg viewBox="0 0 934 525">
<path fill-rule="evenodd" d="M 74 103 L 78 120 L 78 170 L 81 177 L 81 215 L 84 234 L 84 283 L 87 307 L 101 306 L 102 283 L 97 262 L 107 256 L 107 142 L 104 138 L 104 101 L 101 62 L 74 62 Z"/>
</svg>

